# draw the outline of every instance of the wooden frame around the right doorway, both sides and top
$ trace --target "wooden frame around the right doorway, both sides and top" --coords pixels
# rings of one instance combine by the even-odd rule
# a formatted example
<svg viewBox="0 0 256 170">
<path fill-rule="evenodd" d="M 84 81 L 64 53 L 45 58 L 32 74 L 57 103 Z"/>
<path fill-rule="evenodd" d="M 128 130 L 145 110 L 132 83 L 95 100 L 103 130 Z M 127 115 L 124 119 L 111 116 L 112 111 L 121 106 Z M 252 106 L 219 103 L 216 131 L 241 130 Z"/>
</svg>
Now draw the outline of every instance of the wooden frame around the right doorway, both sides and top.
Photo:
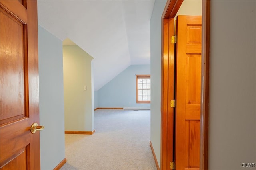
<svg viewBox="0 0 256 170">
<path fill-rule="evenodd" d="M 170 100 L 174 87 L 174 65 L 169 51 L 170 36 L 166 23 L 174 18 L 183 0 L 168 0 L 162 14 L 162 65 L 161 65 L 161 170 L 168 169 L 173 160 L 174 128 L 173 108 Z M 202 0 L 202 67 L 201 67 L 201 110 L 200 110 L 200 169 L 208 169 L 208 104 L 209 104 L 209 59 L 210 54 L 210 0 Z M 166 55 L 168 56 L 166 60 Z M 173 88 L 174 91 L 174 88 Z M 172 115 L 172 116 L 168 116 Z"/>
</svg>

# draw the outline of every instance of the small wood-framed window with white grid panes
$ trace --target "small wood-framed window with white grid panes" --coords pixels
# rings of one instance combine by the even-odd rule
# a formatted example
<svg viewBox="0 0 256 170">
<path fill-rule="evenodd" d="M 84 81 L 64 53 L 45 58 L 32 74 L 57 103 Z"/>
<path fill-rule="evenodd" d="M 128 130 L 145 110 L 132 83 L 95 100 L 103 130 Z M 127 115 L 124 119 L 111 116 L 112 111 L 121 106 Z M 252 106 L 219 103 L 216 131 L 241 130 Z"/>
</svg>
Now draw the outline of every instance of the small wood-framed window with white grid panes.
<svg viewBox="0 0 256 170">
<path fill-rule="evenodd" d="M 150 75 L 136 75 L 136 102 L 150 103 Z"/>
</svg>

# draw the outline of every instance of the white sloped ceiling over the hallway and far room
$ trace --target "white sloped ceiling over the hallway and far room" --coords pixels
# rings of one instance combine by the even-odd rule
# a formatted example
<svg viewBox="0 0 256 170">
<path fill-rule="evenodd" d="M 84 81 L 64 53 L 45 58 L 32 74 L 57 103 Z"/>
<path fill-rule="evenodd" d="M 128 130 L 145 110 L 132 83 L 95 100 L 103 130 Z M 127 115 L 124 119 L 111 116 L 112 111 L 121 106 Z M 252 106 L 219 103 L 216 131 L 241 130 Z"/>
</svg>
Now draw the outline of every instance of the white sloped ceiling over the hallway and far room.
<svg viewBox="0 0 256 170">
<path fill-rule="evenodd" d="M 154 0 L 39 0 L 38 24 L 90 54 L 94 90 L 131 64 L 150 64 Z"/>
</svg>

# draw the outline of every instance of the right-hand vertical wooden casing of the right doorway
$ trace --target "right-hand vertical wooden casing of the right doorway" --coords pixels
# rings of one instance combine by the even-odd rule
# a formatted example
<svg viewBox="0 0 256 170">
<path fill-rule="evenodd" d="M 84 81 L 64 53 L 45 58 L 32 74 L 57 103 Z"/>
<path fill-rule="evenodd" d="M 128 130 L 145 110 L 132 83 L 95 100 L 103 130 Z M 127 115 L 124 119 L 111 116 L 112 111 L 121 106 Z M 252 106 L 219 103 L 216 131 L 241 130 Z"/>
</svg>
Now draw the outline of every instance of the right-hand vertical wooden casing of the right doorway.
<svg viewBox="0 0 256 170">
<path fill-rule="evenodd" d="M 202 1 L 202 92 L 200 125 L 200 167 L 208 170 L 209 117 L 209 63 L 210 63 L 210 0 Z"/>
</svg>

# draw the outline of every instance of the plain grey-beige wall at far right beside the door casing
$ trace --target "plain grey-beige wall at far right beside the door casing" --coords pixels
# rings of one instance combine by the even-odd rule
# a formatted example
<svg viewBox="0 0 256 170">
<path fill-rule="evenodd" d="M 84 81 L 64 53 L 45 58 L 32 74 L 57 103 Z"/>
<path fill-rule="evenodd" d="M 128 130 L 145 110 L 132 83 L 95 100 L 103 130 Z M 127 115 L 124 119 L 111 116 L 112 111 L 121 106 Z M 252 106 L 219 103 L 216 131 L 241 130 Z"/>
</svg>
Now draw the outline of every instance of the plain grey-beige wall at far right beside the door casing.
<svg viewBox="0 0 256 170">
<path fill-rule="evenodd" d="M 256 163 L 255 49 L 256 1 L 211 1 L 209 170 Z"/>
</svg>

